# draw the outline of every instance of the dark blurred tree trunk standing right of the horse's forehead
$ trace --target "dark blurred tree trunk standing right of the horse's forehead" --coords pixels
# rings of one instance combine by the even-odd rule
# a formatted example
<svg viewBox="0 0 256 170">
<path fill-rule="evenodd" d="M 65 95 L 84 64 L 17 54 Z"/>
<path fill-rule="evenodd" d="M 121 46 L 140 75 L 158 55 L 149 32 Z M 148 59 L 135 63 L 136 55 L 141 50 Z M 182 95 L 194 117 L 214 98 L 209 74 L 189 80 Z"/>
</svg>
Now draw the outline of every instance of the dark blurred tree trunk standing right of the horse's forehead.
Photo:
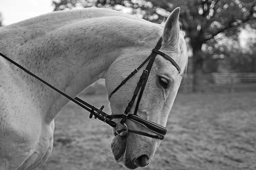
<svg viewBox="0 0 256 170">
<path fill-rule="evenodd" d="M 192 42 L 193 48 L 193 92 L 204 92 L 204 77 L 203 77 L 203 58 L 202 58 L 202 43 Z"/>
</svg>

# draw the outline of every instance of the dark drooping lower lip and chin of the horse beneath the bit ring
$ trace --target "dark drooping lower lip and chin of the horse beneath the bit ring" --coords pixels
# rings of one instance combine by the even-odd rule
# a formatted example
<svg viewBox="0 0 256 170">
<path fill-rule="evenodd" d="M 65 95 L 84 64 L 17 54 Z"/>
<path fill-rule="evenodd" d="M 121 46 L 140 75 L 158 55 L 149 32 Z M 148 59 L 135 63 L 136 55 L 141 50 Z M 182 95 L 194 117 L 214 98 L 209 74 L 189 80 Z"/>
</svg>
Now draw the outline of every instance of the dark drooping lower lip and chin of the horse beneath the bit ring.
<svg viewBox="0 0 256 170">
<path fill-rule="evenodd" d="M 126 140 L 126 136 L 116 135 L 110 144 L 112 153 L 117 163 L 123 161 L 123 155 L 125 154 L 126 150 Z"/>
</svg>

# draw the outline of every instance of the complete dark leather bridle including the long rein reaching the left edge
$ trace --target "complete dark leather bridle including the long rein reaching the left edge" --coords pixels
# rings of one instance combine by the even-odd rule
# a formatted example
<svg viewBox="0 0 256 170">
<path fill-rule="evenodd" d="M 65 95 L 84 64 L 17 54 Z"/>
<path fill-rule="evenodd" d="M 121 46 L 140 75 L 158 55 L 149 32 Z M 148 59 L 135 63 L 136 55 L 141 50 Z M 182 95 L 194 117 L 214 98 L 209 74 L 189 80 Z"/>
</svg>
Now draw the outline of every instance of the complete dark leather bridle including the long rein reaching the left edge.
<svg viewBox="0 0 256 170">
<path fill-rule="evenodd" d="M 94 106 L 92 106 L 89 103 L 86 103 L 85 101 L 81 100 L 78 97 L 72 98 L 71 96 L 65 94 L 64 92 L 58 90 L 57 88 L 55 88 L 54 86 L 50 85 L 49 83 L 47 83 L 46 81 L 42 80 L 41 78 L 39 78 L 38 76 L 34 75 L 32 72 L 30 72 L 29 70 L 25 69 L 23 66 L 19 65 L 18 63 L 16 63 L 15 61 L 11 60 L 10 58 L 8 58 L 7 56 L 5 56 L 4 54 L 2 54 L 0 52 L 0 56 L 2 56 L 3 58 L 5 58 L 6 60 L 10 61 L 11 63 L 13 63 L 15 66 L 19 67 L 21 70 L 25 71 L 26 73 L 28 73 L 29 75 L 33 76 L 34 78 L 38 79 L 39 81 L 41 81 L 42 83 L 44 83 L 45 85 L 49 86 L 50 88 L 52 88 L 53 90 L 57 91 L 58 93 L 60 93 L 61 95 L 65 96 L 66 98 L 68 98 L 69 100 L 73 101 L 74 103 L 78 104 L 79 106 L 81 106 L 82 108 L 86 109 L 87 111 L 90 112 L 90 116 L 89 118 L 91 119 L 93 116 L 94 118 L 98 118 L 99 120 L 109 124 L 110 126 L 112 126 L 113 128 L 115 128 L 115 136 L 119 135 L 119 136 L 126 136 L 128 132 L 130 133 L 135 133 L 135 134 L 140 134 L 140 135 L 144 135 L 144 136 L 148 136 L 151 138 L 158 138 L 158 139 L 164 139 L 164 136 L 167 132 L 167 128 L 163 127 L 161 125 L 155 124 L 149 120 L 146 120 L 142 117 L 139 117 L 137 115 L 137 111 L 138 111 L 138 106 L 139 106 L 139 102 L 141 100 L 145 85 L 147 83 L 148 77 L 149 77 L 149 73 L 150 70 L 152 68 L 152 64 L 154 62 L 155 57 L 157 56 L 157 54 L 165 57 L 166 59 L 168 59 L 179 71 L 180 73 L 180 67 L 177 65 L 177 63 L 168 55 L 166 55 L 165 53 L 159 51 L 159 49 L 161 48 L 161 43 L 162 43 L 162 37 L 159 39 L 157 45 L 155 46 L 155 48 L 152 50 L 152 53 L 149 55 L 148 58 L 146 58 L 145 61 L 143 61 L 143 63 L 137 68 L 135 69 L 130 75 L 128 75 L 128 77 L 126 77 L 121 83 L 120 85 L 118 85 L 117 88 L 115 88 L 115 90 L 108 96 L 108 98 L 110 99 L 111 96 L 123 85 L 125 84 L 125 82 L 127 80 L 129 80 L 134 74 L 136 74 L 138 72 L 138 70 L 144 66 L 144 64 L 149 61 L 148 65 L 146 66 L 146 68 L 143 70 L 142 75 L 140 76 L 140 79 L 138 81 L 137 87 L 135 88 L 134 92 L 133 92 L 133 97 L 131 99 L 131 101 L 128 103 L 128 106 L 126 107 L 125 111 L 123 114 L 106 114 L 105 112 L 102 111 L 102 109 L 104 108 L 104 106 L 102 106 L 100 109 L 95 108 Z M 149 60 L 150 59 L 150 60 Z M 141 88 L 141 90 L 140 90 Z M 138 92 L 140 90 L 140 93 L 138 95 Z M 129 114 L 130 110 L 134 104 L 134 101 L 136 99 L 138 95 L 138 100 L 137 100 L 137 104 L 135 106 L 135 110 L 133 114 Z M 118 119 L 118 118 L 122 118 L 120 121 L 118 122 L 114 122 L 112 121 L 112 119 Z M 136 122 L 138 124 L 143 125 L 145 128 L 149 129 L 151 132 L 157 134 L 157 135 L 151 135 L 145 132 L 140 132 L 140 131 L 134 131 L 134 130 L 130 130 L 128 129 L 127 125 L 125 124 L 126 120 L 130 119 L 133 122 Z M 116 126 L 117 124 L 120 123 L 122 124 L 125 129 L 121 129 L 121 130 L 117 130 Z"/>
</svg>

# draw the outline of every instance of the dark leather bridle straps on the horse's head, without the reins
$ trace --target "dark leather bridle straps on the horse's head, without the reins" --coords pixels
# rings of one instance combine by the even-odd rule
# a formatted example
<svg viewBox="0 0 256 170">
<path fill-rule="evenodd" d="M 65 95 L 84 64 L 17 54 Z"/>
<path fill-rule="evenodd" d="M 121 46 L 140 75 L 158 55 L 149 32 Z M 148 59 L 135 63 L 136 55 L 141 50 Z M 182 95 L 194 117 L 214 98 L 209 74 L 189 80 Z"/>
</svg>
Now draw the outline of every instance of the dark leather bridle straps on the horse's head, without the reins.
<svg viewBox="0 0 256 170">
<path fill-rule="evenodd" d="M 145 89 L 145 86 L 146 86 L 146 83 L 147 83 L 147 80 L 148 80 L 148 77 L 149 77 L 149 73 L 150 73 L 150 70 L 152 68 L 152 65 L 153 65 L 153 62 L 155 60 L 155 57 L 157 56 L 157 54 L 165 57 L 166 59 L 168 59 L 169 61 L 171 61 L 171 63 L 176 67 L 176 69 L 179 71 L 180 73 L 180 67 L 178 66 L 178 64 L 168 55 L 166 55 L 165 53 L 159 51 L 159 49 L 161 48 L 161 44 L 162 44 L 162 37 L 159 39 L 159 41 L 157 42 L 155 48 L 152 50 L 152 53 L 149 55 L 148 58 L 146 58 L 145 61 L 143 61 L 143 63 L 137 68 L 135 69 L 130 75 L 128 75 L 128 77 L 126 77 L 118 86 L 117 88 L 115 88 L 115 90 L 113 90 L 113 92 L 108 96 L 108 99 L 111 98 L 111 96 L 123 85 L 125 84 L 125 82 L 127 80 L 129 80 L 135 73 L 138 72 L 138 70 L 144 66 L 144 64 L 149 61 L 148 65 L 146 66 L 146 68 L 143 70 L 142 72 L 142 75 L 140 76 L 140 79 L 138 81 L 138 84 L 137 84 L 137 87 L 135 88 L 134 92 L 133 92 L 133 97 L 131 99 L 131 101 L 128 103 L 125 111 L 123 114 L 112 114 L 110 115 L 110 119 L 117 119 L 117 118 L 122 118 L 119 122 L 120 124 L 124 125 L 124 127 L 126 129 L 121 129 L 121 130 L 117 130 L 115 128 L 115 135 L 119 135 L 119 136 L 125 136 L 127 135 L 128 132 L 131 132 L 131 133 L 135 133 L 135 134 L 140 134 L 140 135 L 144 135 L 144 136 L 148 136 L 148 137 L 151 137 L 151 138 L 159 138 L 159 139 L 164 139 L 164 136 L 167 132 L 167 128 L 161 126 L 161 125 L 158 125 L 158 124 L 155 124 L 153 122 L 150 122 L 149 120 L 146 120 L 146 119 L 143 119 L 141 117 L 139 117 L 137 115 L 137 111 L 138 111 L 138 107 L 139 107 L 139 103 L 140 103 L 140 100 L 141 100 L 141 97 L 142 97 L 142 94 L 143 94 L 143 91 Z M 141 89 L 141 90 L 140 90 Z M 138 92 L 140 90 L 140 93 L 138 95 Z M 136 103 L 136 106 L 135 106 L 135 110 L 134 110 L 134 113 L 133 114 L 130 114 L 130 110 L 135 102 L 135 99 L 138 95 L 138 100 L 137 100 L 137 103 Z M 147 134 L 147 133 L 144 133 L 144 132 L 140 132 L 140 131 L 134 131 L 134 130 L 130 130 L 127 128 L 127 125 L 125 124 L 126 120 L 127 119 L 130 119 L 138 124 L 141 124 L 143 125 L 144 127 L 146 127 L 147 129 L 149 129 L 151 132 L 154 132 L 155 134 L 158 134 L 158 135 L 151 135 L 151 134 Z M 118 123 L 119 123 L 118 122 Z"/>
</svg>

